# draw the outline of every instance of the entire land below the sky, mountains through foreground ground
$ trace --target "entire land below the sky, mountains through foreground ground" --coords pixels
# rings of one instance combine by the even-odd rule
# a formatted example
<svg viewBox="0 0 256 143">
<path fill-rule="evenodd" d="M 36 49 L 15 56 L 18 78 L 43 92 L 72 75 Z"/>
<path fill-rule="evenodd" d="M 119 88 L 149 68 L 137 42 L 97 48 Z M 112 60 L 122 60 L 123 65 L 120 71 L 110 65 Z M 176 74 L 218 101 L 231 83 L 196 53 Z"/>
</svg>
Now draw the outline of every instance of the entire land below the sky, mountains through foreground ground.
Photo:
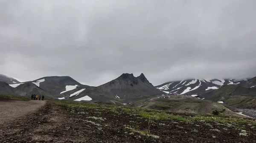
<svg viewBox="0 0 256 143">
<path fill-rule="evenodd" d="M 143 73 L 124 73 L 98 87 L 69 76 L 0 81 L 0 142 L 254 142 L 256 88 L 248 87 L 254 82 L 219 82 L 154 87 Z M 31 94 L 46 101 L 32 101 Z"/>
</svg>

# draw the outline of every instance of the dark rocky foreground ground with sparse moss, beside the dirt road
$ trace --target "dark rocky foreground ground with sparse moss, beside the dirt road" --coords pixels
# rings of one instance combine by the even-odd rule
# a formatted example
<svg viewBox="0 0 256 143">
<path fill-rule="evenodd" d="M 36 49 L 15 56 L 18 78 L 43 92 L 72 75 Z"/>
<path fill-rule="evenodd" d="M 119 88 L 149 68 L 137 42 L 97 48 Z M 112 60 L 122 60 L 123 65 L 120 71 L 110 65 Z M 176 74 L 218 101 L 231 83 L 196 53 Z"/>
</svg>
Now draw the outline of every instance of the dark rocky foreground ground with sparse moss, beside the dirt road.
<svg viewBox="0 0 256 143">
<path fill-rule="evenodd" d="M 27 101 L 23 101 L 27 102 Z M 0 143 L 255 143 L 256 121 L 47 101 L 0 124 Z"/>
</svg>

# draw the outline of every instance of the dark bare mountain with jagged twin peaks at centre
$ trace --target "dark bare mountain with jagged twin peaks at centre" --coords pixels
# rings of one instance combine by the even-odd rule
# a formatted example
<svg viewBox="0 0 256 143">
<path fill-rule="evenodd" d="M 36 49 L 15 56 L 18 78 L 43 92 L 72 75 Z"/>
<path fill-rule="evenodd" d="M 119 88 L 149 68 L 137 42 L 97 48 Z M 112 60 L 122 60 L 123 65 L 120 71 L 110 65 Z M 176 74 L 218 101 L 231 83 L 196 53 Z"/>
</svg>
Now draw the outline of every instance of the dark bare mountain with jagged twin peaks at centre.
<svg viewBox="0 0 256 143">
<path fill-rule="evenodd" d="M 86 95 L 94 100 L 131 99 L 162 93 L 162 91 L 156 89 L 146 79 L 143 73 L 138 77 L 134 77 L 133 74 L 124 73 L 117 79 L 99 87 L 90 87 L 72 99 L 81 98 Z"/>
</svg>

